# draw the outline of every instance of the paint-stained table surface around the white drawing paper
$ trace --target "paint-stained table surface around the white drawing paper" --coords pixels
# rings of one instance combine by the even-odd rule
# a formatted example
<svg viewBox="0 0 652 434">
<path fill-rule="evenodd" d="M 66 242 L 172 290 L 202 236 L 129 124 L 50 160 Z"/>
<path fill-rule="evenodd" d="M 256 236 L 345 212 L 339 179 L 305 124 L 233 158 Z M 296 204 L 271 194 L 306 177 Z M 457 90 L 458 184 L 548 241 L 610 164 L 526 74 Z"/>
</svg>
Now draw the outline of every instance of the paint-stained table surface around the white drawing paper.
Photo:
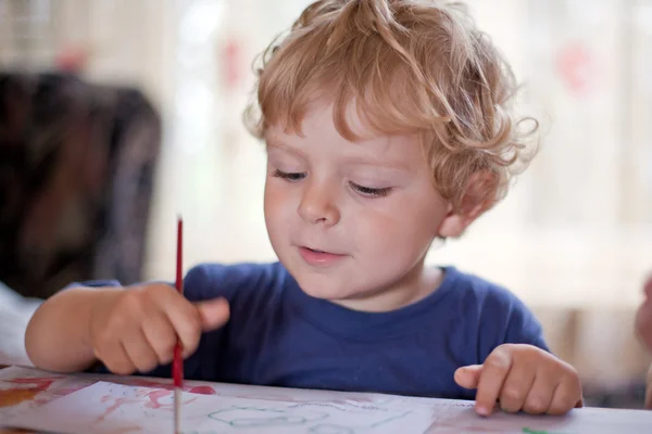
<svg viewBox="0 0 652 434">
<path fill-rule="evenodd" d="M 0 368 L 2 368 L 0 366 Z M 0 390 L 10 391 L 9 395 L 5 397 L 12 398 L 12 392 L 20 390 L 29 391 L 32 394 L 20 393 L 17 394 L 17 401 L 12 401 L 11 407 L 7 405 L 2 407 L 0 406 L 0 420 L 5 420 L 5 423 L 11 425 L 12 417 L 15 414 L 20 414 L 22 411 L 33 411 L 35 408 L 38 408 L 40 405 L 47 405 L 48 403 L 52 403 L 55 399 L 59 399 L 63 396 L 70 395 L 75 391 L 80 391 L 91 384 L 97 383 L 98 381 L 111 382 L 114 384 L 123 384 L 130 386 L 139 386 L 139 387 L 154 387 L 154 388 L 174 388 L 171 379 L 150 379 L 143 376 L 117 376 L 117 375 L 108 375 L 108 374 L 90 374 L 90 373 L 82 373 L 74 375 L 63 375 L 63 374 L 54 374 L 51 372 L 39 371 L 30 368 L 22 368 L 22 367 L 9 367 L 7 369 L 0 370 Z M 9 384 L 9 385 L 8 385 Z M 16 388 L 16 384 L 18 384 Z M 255 399 L 269 399 L 273 401 L 283 401 L 283 403 L 305 403 L 306 405 L 319 405 L 321 403 L 334 403 L 337 401 L 346 403 L 349 400 L 353 401 L 368 401 L 375 403 L 376 399 L 380 399 L 383 405 L 387 403 L 387 396 L 383 394 L 367 394 L 367 393 L 347 393 L 347 392 L 334 392 L 334 391 L 311 391 L 311 390 L 301 390 L 301 388 L 284 388 L 284 387 L 266 387 L 266 386 L 251 386 L 251 385 L 237 385 L 237 384 L 227 384 L 227 383 L 211 383 L 211 382 L 202 382 L 202 381 L 186 381 L 184 384 L 184 390 L 189 393 L 203 394 L 203 395 L 220 395 L 224 399 L 229 398 L 251 398 L 252 396 Z M 35 400 L 35 397 L 38 395 L 38 401 Z M 426 408 L 428 413 L 432 411 L 432 414 L 436 412 L 451 416 L 450 411 L 453 407 L 464 407 L 469 408 L 468 406 L 473 405 L 469 401 L 451 401 L 446 399 L 432 399 L 432 398 L 419 398 L 419 397 L 405 397 L 405 396 L 390 396 L 390 406 L 400 406 L 400 408 L 405 408 L 409 406 L 410 408 Z M 452 403 L 452 405 L 451 405 Z M 35 407 L 36 406 L 36 407 Z M 462 410 L 462 411 L 472 411 L 472 410 Z M 473 412 L 473 411 L 472 411 Z M 456 413 L 455 413 L 456 414 Z M 453 416 L 455 416 L 453 414 Z M 434 416 L 438 418 L 437 416 Z M 457 416 L 455 416 L 457 418 Z M 468 416 L 464 416 L 464 418 L 468 418 Z M 602 409 L 602 408 L 585 408 L 573 410 L 572 413 L 567 414 L 567 417 L 549 417 L 544 421 L 543 419 L 535 419 L 532 417 L 528 417 L 526 414 L 522 416 L 511 416 L 511 414 L 501 414 L 497 413 L 496 418 L 490 418 L 490 421 L 487 419 L 482 419 L 482 422 L 471 421 L 471 423 L 478 424 L 481 423 L 482 427 L 485 424 L 489 424 L 496 427 L 496 423 L 504 423 L 507 421 L 510 425 L 514 424 L 516 419 L 521 422 L 524 420 L 523 418 L 529 418 L 526 423 L 532 423 L 536 425 L 548 424 L 560 429 L 567 427 L 568 432 L 577 432 L 577 429 L 580 427 L 581 432 L 585 432 L 589 425 L 591 430 L 597 429 L 597 431 L 591 431 L 595 433 L 611 433 L 616 426 L 618 429 L 623 427 L 626 431 L 629 426 L 636 425 L 634 431 L 636 433 L 645 433 L 649 434 L 650 431 L 648 426 L 652 426 L 652 411 L 636 411 L 636 410 L 613 410 L 613 409 Z M 453 418 L 454 419 L 454 418 Z M 503 422 L 500 422 L 500 421 Z M 519 423 L 521 423 L 519 422 Z M 563 424 L 559 425 L 557 424 Z M 570 426 L 572 425 L 572 426 Z M 642 427 L 644 426 L 644 427 Z M 469 425 L 469 427 L 472 427 Z M 477 426 L 473 426 L 474 429 Z M 535 426 L 532 426 L 535 427 Z M 547 426 L 541 427 L 548 429 Z M 604 431 L 606 429 L 606 431 Z M 489 430 L 491 431 L 491 430 Z M 563 430 L 562 430 L 563 431 Z M 484 430 L 482 430 L 484 432 Z M 487 431 L 488 432 L 488 431 Z M 496 431 L 492 431 L 496 432 Z M 565 431 L 563 431 L 565 432 Z M 9 427 L 0 427 L 0 434 L 26 434 L 33 433 L 32 431 L 24 430 L 15 430 Z"/>
</svg>

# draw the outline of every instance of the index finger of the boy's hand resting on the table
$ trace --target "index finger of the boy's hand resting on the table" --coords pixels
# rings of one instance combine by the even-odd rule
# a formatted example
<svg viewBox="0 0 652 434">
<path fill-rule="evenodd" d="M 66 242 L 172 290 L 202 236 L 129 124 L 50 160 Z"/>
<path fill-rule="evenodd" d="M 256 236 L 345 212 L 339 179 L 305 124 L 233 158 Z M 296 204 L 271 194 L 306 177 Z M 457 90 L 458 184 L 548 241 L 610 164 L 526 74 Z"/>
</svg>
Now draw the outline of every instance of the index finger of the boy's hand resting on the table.
<svg viewBox="0 0 652 434">
<path fill-rule="evenodd" d="M 493 411 L 503 383 L 512 367 L 512 354 L 505 348 L 494 349 L 482 365 L 476 393 L 476 411 L 489 416 Z"/>
</svg>

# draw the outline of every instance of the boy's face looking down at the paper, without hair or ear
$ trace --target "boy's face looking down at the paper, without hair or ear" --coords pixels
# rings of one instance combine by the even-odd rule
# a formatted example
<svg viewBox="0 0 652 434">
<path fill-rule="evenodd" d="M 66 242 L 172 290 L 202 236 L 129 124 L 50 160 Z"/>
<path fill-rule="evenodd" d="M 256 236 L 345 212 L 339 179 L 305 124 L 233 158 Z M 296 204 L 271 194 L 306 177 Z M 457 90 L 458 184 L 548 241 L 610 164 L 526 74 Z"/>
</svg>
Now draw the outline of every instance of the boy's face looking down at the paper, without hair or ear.
<svg viewBox="0 0 652 434">
<path fill-rule="evenodd" d="M 302 132 L 267 133 L 265 221 L 278 258 L 312 296 L 361 310 L 405 304 L 451 214 L 416 138 L 350 142 L 329 106 L 309 112 Z"/>
</svg>

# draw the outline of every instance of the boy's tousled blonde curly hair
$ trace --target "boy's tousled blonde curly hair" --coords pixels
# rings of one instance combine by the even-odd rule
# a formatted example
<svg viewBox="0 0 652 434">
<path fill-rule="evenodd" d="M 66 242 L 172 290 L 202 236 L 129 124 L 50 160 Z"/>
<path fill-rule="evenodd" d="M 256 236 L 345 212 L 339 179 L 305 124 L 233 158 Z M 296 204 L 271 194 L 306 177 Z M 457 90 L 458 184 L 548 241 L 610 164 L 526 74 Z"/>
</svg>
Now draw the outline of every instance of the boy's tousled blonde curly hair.
<svg viewBox="0 0 652 434">
<path fill-rule="evenodd" d="M 457 210 L 471 189 L 491 207 L 536 153 L 538 124 L 511 111 L 509 64 L 459 3 L 318 0 L 261 59 L 246 112 L 254 136 L 274 125 L 301 133 L 305 112 L 327 101 L 338 132 L 359 140 L 346 116 L 354 107 L 375 133 L 417 135 L 435 187 Z M 478 173 L 489 176 L 472 187 Z"/>
</svg>

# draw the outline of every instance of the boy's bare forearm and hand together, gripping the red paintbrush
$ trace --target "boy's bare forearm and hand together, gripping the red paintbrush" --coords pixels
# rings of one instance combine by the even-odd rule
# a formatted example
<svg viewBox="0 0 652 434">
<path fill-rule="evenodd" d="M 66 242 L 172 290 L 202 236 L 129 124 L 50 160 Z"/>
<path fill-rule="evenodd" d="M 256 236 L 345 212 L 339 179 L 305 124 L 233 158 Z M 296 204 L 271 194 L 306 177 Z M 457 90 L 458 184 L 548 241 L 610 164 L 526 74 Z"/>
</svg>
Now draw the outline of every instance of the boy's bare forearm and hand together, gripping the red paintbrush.
<svg viewBox="0 0 652 434">
<path fill-rule="evenodd" d="M 101 360 L 113 373 L 131 374 L 171 362 L 177 337 L 188 357 L 201 333 L 228 317 L 225 299 L 190 303 L 165 284 L 68 290 L 39 307 L 25 343 L 41 369 L 74 372 Z"/>
</svg>

